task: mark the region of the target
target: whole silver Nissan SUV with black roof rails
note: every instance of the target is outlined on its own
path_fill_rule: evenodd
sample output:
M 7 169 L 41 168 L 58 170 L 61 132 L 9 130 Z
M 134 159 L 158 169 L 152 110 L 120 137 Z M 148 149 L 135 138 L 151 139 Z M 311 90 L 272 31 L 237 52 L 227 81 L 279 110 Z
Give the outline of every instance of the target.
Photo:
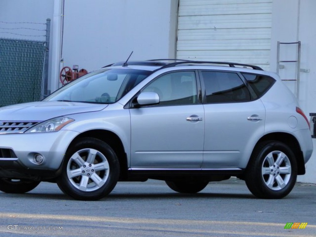
M 309 123 L 275 73 L 248 64 L 115 63 L 40 102 L 0 108 L 0 190 L 56 182 L 79 200 L 118 181 L 196 193 L 236 176 L 282 198 L 313 151 Z

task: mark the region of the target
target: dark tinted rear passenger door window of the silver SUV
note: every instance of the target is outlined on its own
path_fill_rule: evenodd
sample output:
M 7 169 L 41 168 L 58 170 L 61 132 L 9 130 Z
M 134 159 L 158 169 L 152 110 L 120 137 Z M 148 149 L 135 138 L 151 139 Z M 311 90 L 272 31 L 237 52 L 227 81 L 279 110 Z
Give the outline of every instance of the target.
M 251 100 L 250 92 L 237 73 L 202 71 L 207 103 Z

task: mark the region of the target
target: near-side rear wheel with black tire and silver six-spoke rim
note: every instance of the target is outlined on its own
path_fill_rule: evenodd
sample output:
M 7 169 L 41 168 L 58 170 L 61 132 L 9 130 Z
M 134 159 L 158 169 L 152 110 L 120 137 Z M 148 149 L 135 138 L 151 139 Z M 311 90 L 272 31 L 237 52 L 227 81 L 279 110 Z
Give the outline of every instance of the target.
M 266 199 L 283 198 L 292 191 L 296 178 L 295 155 L 286 144 L 266 141 L 256 146 L 245 176 L 253 195 Z

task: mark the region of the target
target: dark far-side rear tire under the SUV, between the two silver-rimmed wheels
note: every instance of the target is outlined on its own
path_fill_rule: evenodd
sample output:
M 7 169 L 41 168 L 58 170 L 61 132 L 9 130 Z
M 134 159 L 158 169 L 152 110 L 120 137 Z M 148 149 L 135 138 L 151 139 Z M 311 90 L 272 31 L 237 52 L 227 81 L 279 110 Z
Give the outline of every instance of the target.
M 180 193 L 197 193 L 202 191 L 209 181 L 166 181 L 173 191 Z

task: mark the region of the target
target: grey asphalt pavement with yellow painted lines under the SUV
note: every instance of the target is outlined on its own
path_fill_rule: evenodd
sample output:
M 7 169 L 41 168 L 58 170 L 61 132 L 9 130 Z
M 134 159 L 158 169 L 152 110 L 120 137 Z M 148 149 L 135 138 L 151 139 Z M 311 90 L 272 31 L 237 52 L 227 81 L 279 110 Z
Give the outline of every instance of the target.
M 0 236 L 316 236 L 315 197 L 316 185 L 297 183 L 283 199 L 257 199 L 231 178 L 193 195 L 158 180 L 121 182 L 86 202 L 41 183 L 26 194 L 0 192 Z

